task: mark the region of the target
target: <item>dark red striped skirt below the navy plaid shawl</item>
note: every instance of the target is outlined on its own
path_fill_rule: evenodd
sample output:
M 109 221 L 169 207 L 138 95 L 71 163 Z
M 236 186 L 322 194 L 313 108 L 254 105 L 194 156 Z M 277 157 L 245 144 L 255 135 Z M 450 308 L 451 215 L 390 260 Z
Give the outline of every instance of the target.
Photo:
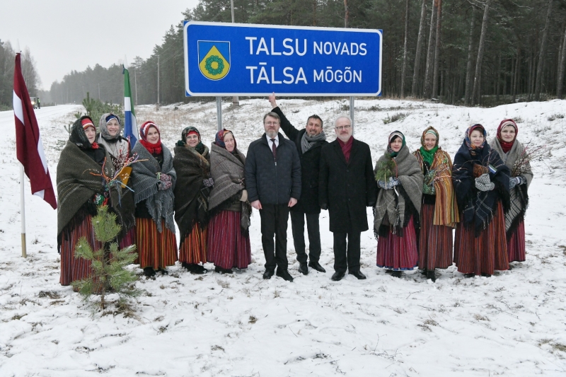
M 479 237 L 474 236 L 473 227 L 466 228 L 463 222 L 456 227 L 454 263 L 463 274 L 493 274 L 495 269 L 509 269 L 507 241 L 505 240 L 505 216 L 501 202 L 490 225 Z

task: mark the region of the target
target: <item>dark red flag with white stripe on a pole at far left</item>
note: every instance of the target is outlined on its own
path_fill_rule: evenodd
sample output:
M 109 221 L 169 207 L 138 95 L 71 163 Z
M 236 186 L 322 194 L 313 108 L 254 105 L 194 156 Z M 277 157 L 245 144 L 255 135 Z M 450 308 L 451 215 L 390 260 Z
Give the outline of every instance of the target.
M 31 193 L 57 208 L 57 199 L 51 183 L 47 158 L 43 151 L 40 128 L 28 88 L 23 81 L 20 54 L 16 54 L 13 69 L 13 115 L 16 122 L 16 156 L 23 165 L 25 175 L 30 178 Z

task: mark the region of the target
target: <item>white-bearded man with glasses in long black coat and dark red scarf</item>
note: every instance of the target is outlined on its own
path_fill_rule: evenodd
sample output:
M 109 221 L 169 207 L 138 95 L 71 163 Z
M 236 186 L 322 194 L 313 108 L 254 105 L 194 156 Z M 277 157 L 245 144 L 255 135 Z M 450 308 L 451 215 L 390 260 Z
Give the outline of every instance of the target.
M 337 139 L 320 153 L 319 181 L 320 207 L 328 209 L 334 233 L 332 279 L 341 280 L 346 271 L 366 279 L 359 270 L 359 255 L 360 236 L 368 230 L 366 207 L 374 206 L 377 195 L 371 151 L 352 136 L 350 117 L 337 117 L 334 129 Z

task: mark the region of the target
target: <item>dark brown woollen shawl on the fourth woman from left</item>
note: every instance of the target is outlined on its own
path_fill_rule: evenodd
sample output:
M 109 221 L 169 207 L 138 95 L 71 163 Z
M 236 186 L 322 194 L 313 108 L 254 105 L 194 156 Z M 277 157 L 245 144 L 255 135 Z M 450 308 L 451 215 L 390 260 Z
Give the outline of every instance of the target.
M 208 198 L 210 187 L 203 180 L 210 178 L 210 153 L 204 146 L 202 155 L 190 146 L 175 146 L 173 167 L 177 173 L 175 185 L 175 222 L 179 227 L 180 245 L 198 223 L 204 228 L 208 223 Z

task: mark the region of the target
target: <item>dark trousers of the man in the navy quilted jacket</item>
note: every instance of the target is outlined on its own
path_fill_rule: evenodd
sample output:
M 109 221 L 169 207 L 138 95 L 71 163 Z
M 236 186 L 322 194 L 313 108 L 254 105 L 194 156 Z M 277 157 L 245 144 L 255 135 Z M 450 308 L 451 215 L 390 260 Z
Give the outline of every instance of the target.
M 261 243 L 265 255 L 265 269 L 275 271 L 287 270 L 287 221 L 289 221 L 289 206 L 285 204 L 262 204 Z M 273 236 L 275 235 L 275 243 Z

